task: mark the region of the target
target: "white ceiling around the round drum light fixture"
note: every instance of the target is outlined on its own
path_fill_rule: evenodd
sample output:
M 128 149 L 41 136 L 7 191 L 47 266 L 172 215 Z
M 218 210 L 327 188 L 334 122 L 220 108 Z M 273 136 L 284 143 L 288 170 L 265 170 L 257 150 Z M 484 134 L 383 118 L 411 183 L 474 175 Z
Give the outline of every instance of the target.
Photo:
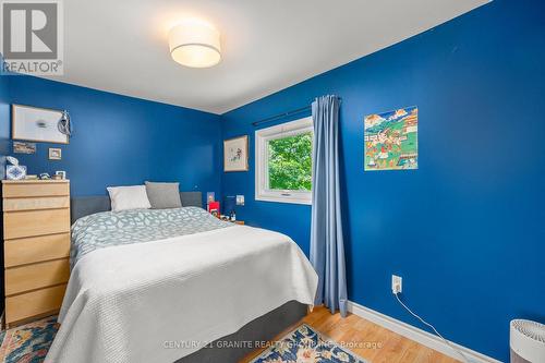
M 223 113 L 429 29 L 487 0 L 66 0 L 57 81 Z M 189 69 L 167 34 L 198 17 L 222 61 Z

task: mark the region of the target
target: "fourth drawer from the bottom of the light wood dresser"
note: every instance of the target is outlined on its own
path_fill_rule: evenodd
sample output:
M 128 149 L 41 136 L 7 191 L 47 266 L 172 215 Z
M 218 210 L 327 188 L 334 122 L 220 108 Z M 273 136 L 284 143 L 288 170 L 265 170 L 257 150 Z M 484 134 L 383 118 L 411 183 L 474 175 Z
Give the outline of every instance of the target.
M 70 209 L 5 211 L 4 239 L 19 239 L 70 231 Z

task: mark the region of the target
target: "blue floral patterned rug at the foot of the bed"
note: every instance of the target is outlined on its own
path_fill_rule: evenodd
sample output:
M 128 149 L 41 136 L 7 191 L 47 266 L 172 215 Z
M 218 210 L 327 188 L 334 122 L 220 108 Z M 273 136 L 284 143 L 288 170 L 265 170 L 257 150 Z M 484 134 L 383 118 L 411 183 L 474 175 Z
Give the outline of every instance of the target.
M 306 324 L 271 343 L 251 363 L 368 363 Z

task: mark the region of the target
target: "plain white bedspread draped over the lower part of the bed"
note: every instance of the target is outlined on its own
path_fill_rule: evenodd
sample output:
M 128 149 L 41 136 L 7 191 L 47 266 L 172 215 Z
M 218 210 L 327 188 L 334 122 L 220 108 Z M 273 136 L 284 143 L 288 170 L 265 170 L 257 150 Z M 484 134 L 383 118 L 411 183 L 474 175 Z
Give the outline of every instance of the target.
M 75 265 L 46 362 L 174 362 L 290 300 L 317 276 L 287 235 L 233 226 L 111 246 Z

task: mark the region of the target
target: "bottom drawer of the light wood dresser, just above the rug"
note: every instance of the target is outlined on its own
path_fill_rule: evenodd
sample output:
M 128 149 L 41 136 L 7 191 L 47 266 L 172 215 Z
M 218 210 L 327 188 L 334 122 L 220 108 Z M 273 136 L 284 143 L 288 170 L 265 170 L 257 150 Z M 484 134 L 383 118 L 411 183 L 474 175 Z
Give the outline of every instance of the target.
M 5 322 L 11 324 L 35 315 L 57 312 L 61 307 L 65 290 L 66 286 L 61 285 L 5 298 Z

